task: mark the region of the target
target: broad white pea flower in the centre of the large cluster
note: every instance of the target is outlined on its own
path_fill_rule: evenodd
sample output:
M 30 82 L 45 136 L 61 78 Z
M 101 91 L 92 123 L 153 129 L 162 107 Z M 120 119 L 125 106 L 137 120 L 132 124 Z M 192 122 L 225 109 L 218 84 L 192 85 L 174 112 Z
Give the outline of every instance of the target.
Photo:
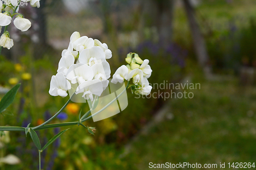
M 72 84 L 83 83 L 87 80 L 92 80 L 94 77 L 93 70 L 87 64 L 73 64 L 70 66 L 66 78 L 71 81 Z

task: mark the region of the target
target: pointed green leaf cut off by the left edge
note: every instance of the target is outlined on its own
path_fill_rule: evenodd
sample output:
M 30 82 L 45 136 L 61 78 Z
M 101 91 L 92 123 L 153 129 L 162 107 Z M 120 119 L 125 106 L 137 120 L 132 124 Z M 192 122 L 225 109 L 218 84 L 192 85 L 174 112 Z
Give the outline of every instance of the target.
M 0 113 L 2 113 L 13 102 L 19 86 L 20 84 L 15 85 L 4 95 L 3 99 L 0 101 Z

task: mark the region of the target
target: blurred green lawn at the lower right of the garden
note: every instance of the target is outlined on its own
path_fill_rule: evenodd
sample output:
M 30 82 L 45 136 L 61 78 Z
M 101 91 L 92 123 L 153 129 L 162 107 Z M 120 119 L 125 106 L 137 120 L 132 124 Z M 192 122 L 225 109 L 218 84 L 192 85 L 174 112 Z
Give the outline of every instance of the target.
M 193 99 L 171 102 L 174 119 L 153 127 L 125 159 L 138 169 L 153 163 L 254 162 L 256 88 L 205 82 Z M 185 169 L 185 168 L 184 168 Z

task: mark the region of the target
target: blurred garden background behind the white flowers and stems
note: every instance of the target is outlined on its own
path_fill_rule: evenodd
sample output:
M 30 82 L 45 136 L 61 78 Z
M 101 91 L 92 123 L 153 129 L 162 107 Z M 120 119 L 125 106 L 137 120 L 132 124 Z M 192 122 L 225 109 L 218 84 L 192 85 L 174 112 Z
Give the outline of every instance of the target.
M 150 169 L 153 163 L 256 160 L 256 1 L 254 0 L 41 0 L 20 7 L 32 22 L 22 33 L 8 27 L 14 46 L 0 56 L 0 98 L 22 83 L 0 125 L 40 125 L 68 100 L 49 94 L 61 51 L 73 32 L 108 44 L 112 74 L 127 53 L 149 59 L 154 83 L 200 83 L 193 99 L 136 99 L 99 122 L 95 136 L 72 126 L 46 152 L 42 169 Z M 3 33 L 3 31 L 2 31 Z M 154 88 L 153 92 L 175 89 Z M 176 90 L 177 91 L 177 90 Z M 182 91 L 182 90 L 181 90 Z M 70 103 L 54 120 L 77 121 L 86 103 Z M 62 128 L 38 132 L 45 144 Z M 0 169 L 37 169 L 38 153 L 24 132 L 0 138 Z

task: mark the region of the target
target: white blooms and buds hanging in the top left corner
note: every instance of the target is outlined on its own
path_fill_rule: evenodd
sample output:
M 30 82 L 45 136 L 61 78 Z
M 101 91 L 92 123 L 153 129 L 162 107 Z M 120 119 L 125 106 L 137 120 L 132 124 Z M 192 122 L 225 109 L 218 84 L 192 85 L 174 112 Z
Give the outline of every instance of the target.
M 21 31 L 27 31 L 31 27 L 31 22 L 23 18 L 22 14 L 16 13 L 19 9 L 18 6 L 20 3 L 27 4 L 30 2 L 32 7 L 39 8 L 39 1 L 40 0 L 0 0 L 0 30 L 2 27 L 10 25 L 12 18 L 17 14 L 13 21 L 14 26 Z M 0 37 L 0 46 L 8 48 L 8 50 L 13 46 L 13 40 L 10 38 L 8 31 L 4 32 Z

